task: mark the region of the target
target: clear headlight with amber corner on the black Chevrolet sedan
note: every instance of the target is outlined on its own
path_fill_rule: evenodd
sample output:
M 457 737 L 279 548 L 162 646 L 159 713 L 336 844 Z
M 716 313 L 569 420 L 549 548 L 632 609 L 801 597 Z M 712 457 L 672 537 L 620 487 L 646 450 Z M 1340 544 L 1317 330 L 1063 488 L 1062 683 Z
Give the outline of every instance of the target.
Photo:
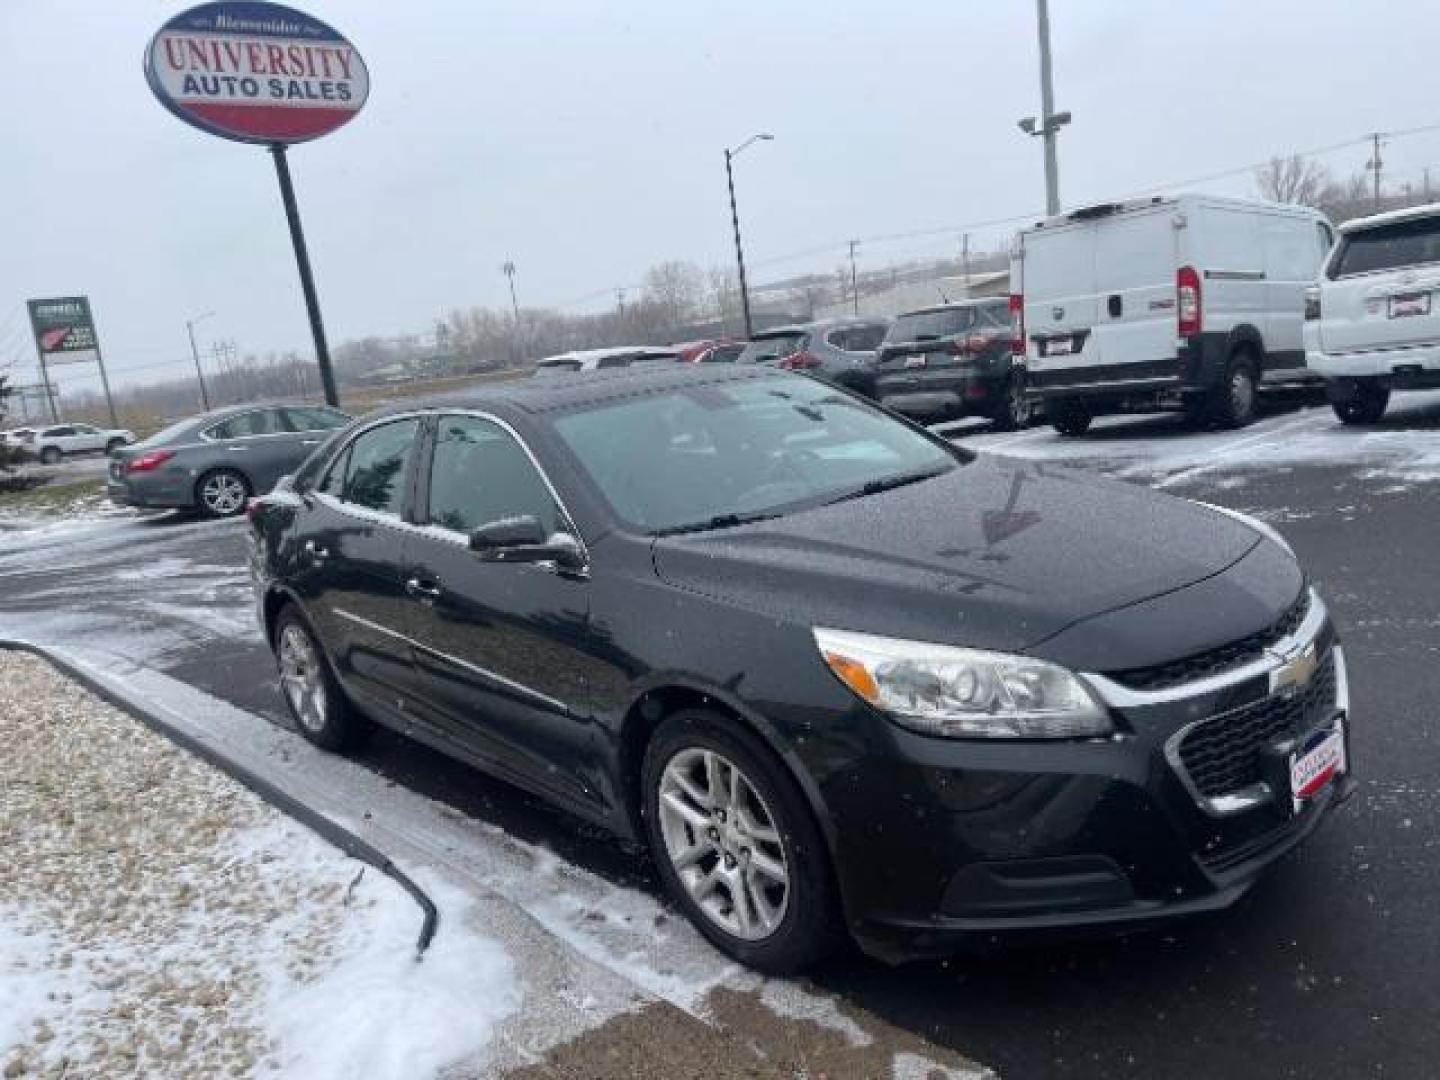
M 1077 739 L 1113 730 L 1084 684 L 1044 660 L 821 626 L 814 632 L 841 683 L 923 734 Z

